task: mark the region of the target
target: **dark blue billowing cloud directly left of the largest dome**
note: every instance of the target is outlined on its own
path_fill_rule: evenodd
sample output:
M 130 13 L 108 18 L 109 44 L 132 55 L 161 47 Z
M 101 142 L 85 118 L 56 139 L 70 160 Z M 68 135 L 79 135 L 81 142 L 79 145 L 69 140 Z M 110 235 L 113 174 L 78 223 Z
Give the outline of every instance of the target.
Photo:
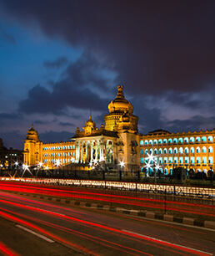
M 100 69 L 101 73 L 97 70 Z M 104 74 L 108 67 L 89 53 L 84 53 L 63 71 L 63 78 L 52 84 L 52 91 L 40 84 L 28 91 L 28 98 L 21 100 L 19 110 L 25 114 L 54 113 L 64 115 L 67 107 L 80 110 L 105 111 L 112 74 Z M 103 72 L 103 73 L 102 73 Z M 103 93 L 103 95 L 102 95 Z

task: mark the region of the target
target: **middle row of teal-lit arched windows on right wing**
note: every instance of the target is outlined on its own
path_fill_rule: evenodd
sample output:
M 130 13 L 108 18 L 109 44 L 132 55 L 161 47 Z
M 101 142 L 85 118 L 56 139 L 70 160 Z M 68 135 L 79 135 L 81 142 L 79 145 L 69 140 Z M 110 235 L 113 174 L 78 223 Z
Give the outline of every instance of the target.
M 186 147 L 185 149 L 183 149 L 183 147 L 180 147 L 179 149 L 177 147 L 175 147 L 174 149 L 172 147 L 170 147 L 169 149 L 167 148 L 160 148 L 160 149 L 145 149 L 144 154 L 154 154 L 154 155 L 161 155 L 161 154 L 188 154 L 188 153 L 213 153 L 213 147 L 209 146 L 208 149 L 206 146 L 203 146 L 203 148 L 201 149 L 199 146 L 196 148 L 196 150 L 194 149 L 194 147 L 191 147 L 190 150 L 188 147 Z M 143 155 L 143 149 L 141 149 L 140 154 Z

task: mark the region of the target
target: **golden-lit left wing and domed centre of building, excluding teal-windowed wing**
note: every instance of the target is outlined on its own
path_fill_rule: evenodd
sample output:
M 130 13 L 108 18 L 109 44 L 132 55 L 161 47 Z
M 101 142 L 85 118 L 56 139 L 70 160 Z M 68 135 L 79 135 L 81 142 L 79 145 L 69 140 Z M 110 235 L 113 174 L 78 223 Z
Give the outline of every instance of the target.
M 62 165 L 100 163 L 101 168 L 118 169 L 118 164 L 123 162 L 126 170 L 137 169 L 138 116 L 133 115 L 133 105 L 125 99 L 123 86 L 117 86 L 117 97 L 110 102 L 108 110 L 109 114 L 104 115 L 105 126 L 98 129 L 89 116 L 83 131 L 77 128 L 72 141 L 67 142 L 44 144 L 32 125 L 24 143 L 24 163 L 29 166 L 38 162 L 54 166 L 57 161 Z

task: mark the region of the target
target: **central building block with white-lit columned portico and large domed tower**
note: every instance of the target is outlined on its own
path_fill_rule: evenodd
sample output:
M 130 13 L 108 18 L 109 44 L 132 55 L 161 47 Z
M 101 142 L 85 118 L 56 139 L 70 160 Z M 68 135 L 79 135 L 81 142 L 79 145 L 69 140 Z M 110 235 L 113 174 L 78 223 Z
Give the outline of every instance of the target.
M 135 170 L 139 163 L 138 116 L 133 115 L 133 105 L 125 99 L 123 86 L 117 86 L 117 97 L 108 105 L 109 114 L 104 115 L 105 126 L 98 129 L 91 116 L 83 131 L 77 128 L 76 162 L 98 163 L 117 168 L 125 163 L 126 170 Z

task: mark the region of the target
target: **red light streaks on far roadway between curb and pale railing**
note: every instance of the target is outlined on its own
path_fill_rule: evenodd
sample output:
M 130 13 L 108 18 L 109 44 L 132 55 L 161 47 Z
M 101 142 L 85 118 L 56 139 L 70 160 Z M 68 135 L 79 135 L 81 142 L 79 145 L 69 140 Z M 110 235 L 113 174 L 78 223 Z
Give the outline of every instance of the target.
M 97 202 L 107 202 L 107 203 L 116 203 L 116 204 L 125 204 L 125 205 L 133 205 L 136 207 L 148 207 L 148 208 L 156 208 L 160 210 L 168 210 L 174 212 L 186 212 L 190 214 L 203 215 L 208 217 L 215 217 L 214 207 L 203 205 L 203 204 L 193 204 L 188 202 L 172 202 L 172 201 L 164 201 L 159 199 L 151 199 L 151 198 L 139 198 L 139 197 L 125 197 L 121 195 L 112 195 L 107 193 L 97 193 L 97 192 L 80 192 L 76 190 L 67 190 L 67 189 L 54 189 L 47 187 L 37 186 L 25 186 L 18 185 L 17 183 L 10 182 L 5 184 L 5 182 L 0 182 L 1 190 L 5 191 L 14 191 L 14 192 L 26 192 L 26 193 L 35 193 L 47 195 L 50 197 L 66 197 L 66 198 L 77 198 L 82 200 L 91 200 Z M 174 204 L 174 205 L 173 205 Z M 173 206 L 171 206 L 173 205 Z M 194 211 L 193 207 L 197 208 L 198 211 Z M 200 210 L 201 209 L 201 210 Z

